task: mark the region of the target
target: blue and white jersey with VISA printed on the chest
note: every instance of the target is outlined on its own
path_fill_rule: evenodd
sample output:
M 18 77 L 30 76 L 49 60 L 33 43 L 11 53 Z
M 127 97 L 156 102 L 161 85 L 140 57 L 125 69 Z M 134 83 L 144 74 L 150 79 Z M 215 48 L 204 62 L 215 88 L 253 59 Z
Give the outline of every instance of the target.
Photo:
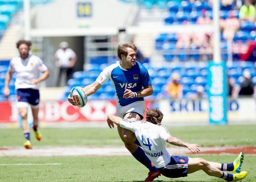
M 130 89 L 132 92 L 138 92 L 142 87 L 151 85 L 151 80 L 147 69 L 135 62 L 135 65 L 130 69 L 124 69 L 121 66 L 121 61 L 116 61 L 112 65 L 106 67 L 96 79 L 101 85 L 111 80 L 116 92 L 117 105 L 126 106 L 136 101 L 143 101 L 143 97 L 134 97 L 124 99 L 124 89 Z

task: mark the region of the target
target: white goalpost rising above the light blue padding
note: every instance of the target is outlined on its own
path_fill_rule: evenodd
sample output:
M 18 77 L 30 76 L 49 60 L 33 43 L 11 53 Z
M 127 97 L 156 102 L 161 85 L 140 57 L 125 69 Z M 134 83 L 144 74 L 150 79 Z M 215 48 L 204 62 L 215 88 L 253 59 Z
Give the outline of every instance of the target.
M 220 0 L 213 1 L 213 61 L 221 62 L 220 50 Z

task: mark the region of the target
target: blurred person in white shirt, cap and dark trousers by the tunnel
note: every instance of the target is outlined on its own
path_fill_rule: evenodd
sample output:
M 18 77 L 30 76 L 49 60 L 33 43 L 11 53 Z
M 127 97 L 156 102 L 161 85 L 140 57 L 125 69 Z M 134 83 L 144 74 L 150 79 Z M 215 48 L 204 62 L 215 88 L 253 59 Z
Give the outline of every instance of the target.
M 68 43 L 61 42 L 60 49 L 56 51 L 54 56 L 56 66 L 59 67 L 59 77 L 56 84 L 57 87 L 60 86 L 62 73 L 67 75 L 65 84 L 67 83 L 67 80 L 72 78 L 73 66 L 75 65 L 76 59 L 76 53 L 72 49 L 68 48 Z

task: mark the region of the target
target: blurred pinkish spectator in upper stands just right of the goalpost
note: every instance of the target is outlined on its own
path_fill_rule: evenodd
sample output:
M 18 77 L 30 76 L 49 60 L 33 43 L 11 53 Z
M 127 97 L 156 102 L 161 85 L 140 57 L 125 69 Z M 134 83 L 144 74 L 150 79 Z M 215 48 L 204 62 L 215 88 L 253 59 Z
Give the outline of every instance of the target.
M 233 11 L 228 12 L 228 18 L 220 20 L 220 26 L 223 30 L 223 37 L 226 40 L 233 40 L 236 31 L 240 28 L 239 20 L 234 16 Z

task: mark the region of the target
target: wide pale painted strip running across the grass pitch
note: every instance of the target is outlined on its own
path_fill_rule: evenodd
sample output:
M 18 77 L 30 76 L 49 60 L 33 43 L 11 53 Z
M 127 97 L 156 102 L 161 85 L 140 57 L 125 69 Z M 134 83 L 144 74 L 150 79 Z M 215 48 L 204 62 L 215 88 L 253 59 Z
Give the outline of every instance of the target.
M 201 147 L 201 152 L 238 149 L 242 146 L 226 147 Z M 4 156 L 124 156 L 131 155 L 124 146 L 44 146 L 33 147 L 28 150 L 24 147 L 3 147 L 0 157 Z M 0 148 L 1 149 L 1 148 Z M 192 154 L 185 147 L 167 147 L 167 151 L 173 155 Z M 237 154 L 240 151 L 237 151 Z M 211 153 L 211 152 L 210 152 Z M 200 154 L 200 153 L 199 153 Z

